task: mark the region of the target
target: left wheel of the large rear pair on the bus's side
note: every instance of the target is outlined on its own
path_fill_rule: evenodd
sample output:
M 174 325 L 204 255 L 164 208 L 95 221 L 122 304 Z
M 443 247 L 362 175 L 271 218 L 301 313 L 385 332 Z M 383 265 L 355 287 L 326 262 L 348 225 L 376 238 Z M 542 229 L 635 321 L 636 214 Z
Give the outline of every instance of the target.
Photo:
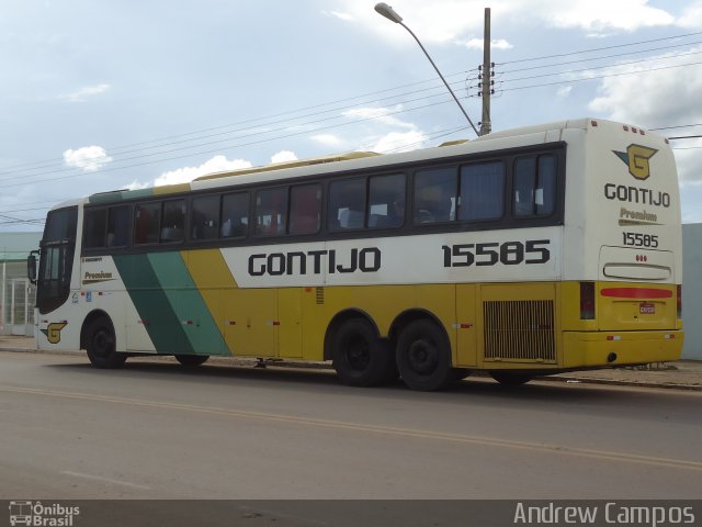
M 363 318 L 344 322 L 337 329 L 332 346 L 333 368 L 344 384 L 373 386 L 393 380 L 393 352 L 370 322 Z

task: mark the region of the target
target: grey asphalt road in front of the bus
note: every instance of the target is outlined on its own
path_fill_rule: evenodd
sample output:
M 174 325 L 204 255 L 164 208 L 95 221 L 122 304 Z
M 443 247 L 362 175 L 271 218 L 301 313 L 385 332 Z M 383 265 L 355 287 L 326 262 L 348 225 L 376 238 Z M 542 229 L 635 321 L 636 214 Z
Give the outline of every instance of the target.
M 702 392 L 0 352 L 0 498 L 698 498 Z

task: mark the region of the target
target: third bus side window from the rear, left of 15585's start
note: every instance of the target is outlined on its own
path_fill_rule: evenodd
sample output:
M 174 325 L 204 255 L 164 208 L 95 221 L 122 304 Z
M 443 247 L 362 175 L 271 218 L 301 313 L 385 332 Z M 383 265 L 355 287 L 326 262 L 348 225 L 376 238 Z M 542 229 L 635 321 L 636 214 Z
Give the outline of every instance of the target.
M 457 169 L 435 168 L 415 175 L 412 221 L 415 224 L 449 222 L 455 218 Z

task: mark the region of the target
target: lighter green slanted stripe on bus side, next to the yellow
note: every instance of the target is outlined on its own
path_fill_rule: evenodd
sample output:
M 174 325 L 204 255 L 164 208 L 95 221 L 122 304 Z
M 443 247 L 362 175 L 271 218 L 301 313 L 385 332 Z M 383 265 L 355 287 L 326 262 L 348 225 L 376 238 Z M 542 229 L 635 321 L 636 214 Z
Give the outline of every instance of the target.
M 225 339 L 180 253 L 148 255 L 179 324 L 197 355 L 228 355 Z

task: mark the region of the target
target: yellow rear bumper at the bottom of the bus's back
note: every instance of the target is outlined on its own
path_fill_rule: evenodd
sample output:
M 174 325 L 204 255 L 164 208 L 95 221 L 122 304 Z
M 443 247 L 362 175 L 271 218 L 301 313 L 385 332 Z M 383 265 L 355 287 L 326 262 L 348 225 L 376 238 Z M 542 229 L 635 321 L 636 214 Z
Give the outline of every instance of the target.
M 680 359 L 684 334 L 668 332 L 566 332 L 563 368 L 668 362 Z

